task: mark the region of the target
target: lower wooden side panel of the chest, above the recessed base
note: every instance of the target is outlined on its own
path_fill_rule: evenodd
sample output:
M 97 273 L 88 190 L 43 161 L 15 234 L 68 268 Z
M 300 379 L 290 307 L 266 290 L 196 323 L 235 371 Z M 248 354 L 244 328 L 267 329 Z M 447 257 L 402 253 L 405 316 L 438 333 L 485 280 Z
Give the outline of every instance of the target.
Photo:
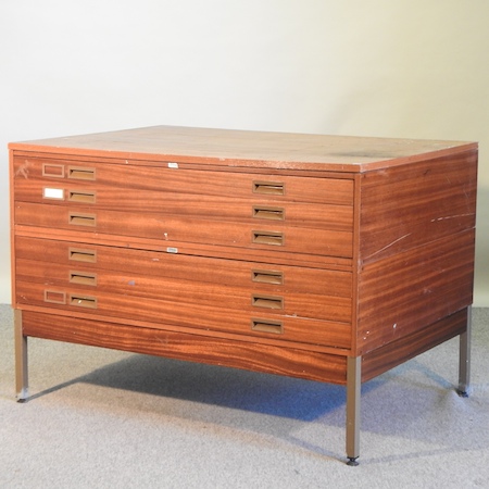
M 474 244 L 471 229 L 365 265 L 359 289 L 359 354 L 472 304 Z

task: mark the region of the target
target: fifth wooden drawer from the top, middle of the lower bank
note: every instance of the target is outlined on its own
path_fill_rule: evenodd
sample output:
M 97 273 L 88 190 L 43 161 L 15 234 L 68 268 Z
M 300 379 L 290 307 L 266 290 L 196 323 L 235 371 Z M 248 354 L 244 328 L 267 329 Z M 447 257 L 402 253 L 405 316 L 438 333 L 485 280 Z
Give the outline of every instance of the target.
M 237 310 L 249 314 L 308 317 L 316 319 L 351 322 L 351 298 L 327 293 L 278 291 L 276 288 L 255 287 L 226 283 L 209 283 L 113 271 L 93 272 L 85 267 L 66 267 L 47 262 L 17 260 L 17 279 L 40 284 L 46 291 L 76 290 L 97 299 L 99 292 L 108 292 L 133 300 L 135 306 L 146 298 L 189 309 L 196 304 L 209 308 Z M 51 302 L 47 300 L 47 302 Z M 95 305 L 91 304 L 91 305 Z

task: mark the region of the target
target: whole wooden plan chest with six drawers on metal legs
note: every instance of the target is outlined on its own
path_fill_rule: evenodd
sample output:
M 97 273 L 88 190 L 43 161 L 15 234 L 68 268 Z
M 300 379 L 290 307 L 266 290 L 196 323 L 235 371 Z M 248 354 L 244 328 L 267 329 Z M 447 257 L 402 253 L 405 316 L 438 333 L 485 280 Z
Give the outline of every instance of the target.
M 39 337 L 347 386 L 454 337 L 477 143 L 159 126 L 10 145 L 16 388 Z

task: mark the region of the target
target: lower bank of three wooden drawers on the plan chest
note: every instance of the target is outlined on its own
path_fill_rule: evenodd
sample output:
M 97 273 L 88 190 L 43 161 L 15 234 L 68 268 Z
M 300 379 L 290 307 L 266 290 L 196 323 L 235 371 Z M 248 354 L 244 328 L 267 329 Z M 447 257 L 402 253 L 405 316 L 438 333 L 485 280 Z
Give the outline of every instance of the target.
M 351 273 L 21 237 L 15 251 L 18 304 L 349 348 Z

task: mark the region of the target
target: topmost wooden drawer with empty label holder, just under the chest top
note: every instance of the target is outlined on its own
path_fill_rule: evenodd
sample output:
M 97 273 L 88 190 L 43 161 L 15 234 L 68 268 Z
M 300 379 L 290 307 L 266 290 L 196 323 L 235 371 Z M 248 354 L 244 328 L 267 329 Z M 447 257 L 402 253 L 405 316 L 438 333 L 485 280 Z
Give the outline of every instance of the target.
M 180 170 L 172 167 L 172 164 L 168 166 L 168 163 L 143 166 L 139 162 L 136 166 L 17 156 L 14 159 L 14 183 L 17 199 L 18 196 L 32 193 L 33 186 L 40 185 L 54 189 L 62 188 L 65 192 L 73 188 L 98 193 L 99 188 L 112 188 L 117 204 L 127 204 L 121 202 L 121 192 L 124 191 L 125 196 L 125 190 L 133 189 L 136 191 L 135 200 L 145 199 L 145 192 L 164 192 L 353 205 L 353 180 L 348 178 Z M 55 192 L 53 195 L 55 196 Z

